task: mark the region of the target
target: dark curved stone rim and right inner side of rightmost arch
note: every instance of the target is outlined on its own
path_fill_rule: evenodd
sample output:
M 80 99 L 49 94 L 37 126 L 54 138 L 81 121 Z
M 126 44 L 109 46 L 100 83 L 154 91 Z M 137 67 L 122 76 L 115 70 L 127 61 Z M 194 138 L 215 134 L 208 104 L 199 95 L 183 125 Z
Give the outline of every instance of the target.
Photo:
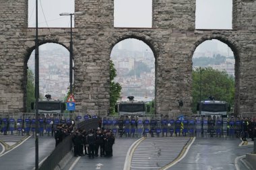
M 222 34 L 205 34 L 205 36 L 202 36 L 199 38 L 194 43 L 193 49 L 191 50 L 190 56 L 193 56 L 193 53 L 195 52 L 195 49 L 199 44 L 205 42 L 206 40 L 212 40 L 216 39 L 219 40 L 220 42 L 223 42 L 224 44 L 227 44 L 229 48 L 231 48 L 232 52 L 234 53 L 234 59 L 235 59 L 235 64 L 234 64 L 234 87 L 235 87 L 235 94 L 234 94 L 234 114 L 240 113 L 240 95 L 239 95 L 239 89 L 240 89 L 240 56 L 239 56 L 239 45 L 238 42 L 234 40 L 230 40 L 228 36 L 223 36 Z

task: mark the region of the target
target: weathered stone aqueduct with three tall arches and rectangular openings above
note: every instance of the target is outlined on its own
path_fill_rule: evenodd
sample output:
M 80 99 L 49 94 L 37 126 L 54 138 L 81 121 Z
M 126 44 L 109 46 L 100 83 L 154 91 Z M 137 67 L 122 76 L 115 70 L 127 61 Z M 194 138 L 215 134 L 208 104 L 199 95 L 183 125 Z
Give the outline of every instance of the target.
M 76 109 L 109 110 L 110 52 L 121 40 L 142 40 L 156 58 L 156 112 L 191 110 L 192 56 L 205 40 L 234 52 L 235 112 L 256 112 L 256 1 L 233 0 L 232 30 L 195 30 L 195 0 L 152 1 L 152 28 L 114 28 L 113 0 L 75 0 L 73 48 Z M 26 71 L 35 29 L 28 28 L 27 0 L 0 0 L 0 110 L 26 110 Z M 69 49 L 69 28 L 40 28 L 40 44 Z

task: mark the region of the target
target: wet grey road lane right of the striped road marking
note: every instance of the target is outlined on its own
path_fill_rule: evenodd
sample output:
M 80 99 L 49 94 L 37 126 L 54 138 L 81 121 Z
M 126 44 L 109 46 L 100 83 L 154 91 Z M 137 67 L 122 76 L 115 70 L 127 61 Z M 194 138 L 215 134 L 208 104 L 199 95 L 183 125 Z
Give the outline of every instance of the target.
M 238 146 L 238 138 L 196 138 L 186 157 L 171 170 L 234 170 L 236 157 L 251 153 L 253 146 Z M 240 169 L 246 168 L 238 162 Z

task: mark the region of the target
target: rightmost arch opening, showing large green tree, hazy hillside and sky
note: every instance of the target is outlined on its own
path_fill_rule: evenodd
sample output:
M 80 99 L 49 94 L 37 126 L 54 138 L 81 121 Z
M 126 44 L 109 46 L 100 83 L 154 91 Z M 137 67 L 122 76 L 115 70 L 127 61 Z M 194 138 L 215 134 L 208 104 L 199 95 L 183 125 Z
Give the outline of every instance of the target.
M 193 113 L 197 102 L 212 96 L 227 101 L 234 114 L 238 113 L 238 56 L 227 40 L 203 40 L 193 53 Z

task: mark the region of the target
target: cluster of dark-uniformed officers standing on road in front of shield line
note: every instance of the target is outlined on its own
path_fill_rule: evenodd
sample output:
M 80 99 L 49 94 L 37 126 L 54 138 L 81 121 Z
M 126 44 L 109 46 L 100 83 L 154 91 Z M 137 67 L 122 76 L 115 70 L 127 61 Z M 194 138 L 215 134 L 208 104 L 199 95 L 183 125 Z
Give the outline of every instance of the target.
M 115 136 L 104 128 L 86 130 L 76 129 L 72 137 L 74 156 L 88 155 L 89 158 L 112 157 Z

